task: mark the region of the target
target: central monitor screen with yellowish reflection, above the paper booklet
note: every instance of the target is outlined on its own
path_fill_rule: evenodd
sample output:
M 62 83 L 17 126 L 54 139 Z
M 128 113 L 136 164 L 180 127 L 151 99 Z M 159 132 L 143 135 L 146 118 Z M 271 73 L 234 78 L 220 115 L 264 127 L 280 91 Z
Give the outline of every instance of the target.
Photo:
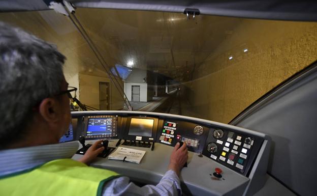
M 154 119 L 132 118 L 130 123 L 129 135 L 152 136 Z

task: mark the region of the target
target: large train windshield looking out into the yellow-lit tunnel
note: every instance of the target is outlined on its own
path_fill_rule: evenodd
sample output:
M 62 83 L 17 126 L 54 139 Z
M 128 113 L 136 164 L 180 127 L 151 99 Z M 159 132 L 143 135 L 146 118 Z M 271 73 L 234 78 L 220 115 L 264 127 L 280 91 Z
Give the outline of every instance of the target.
M 0 20 L 57 46 L 87 109 L 228 123 L 316 61 L 316 22 L 91 8 L 75 16 L 8 12 Z M 76 102 L 72 109 L 81 110 Z

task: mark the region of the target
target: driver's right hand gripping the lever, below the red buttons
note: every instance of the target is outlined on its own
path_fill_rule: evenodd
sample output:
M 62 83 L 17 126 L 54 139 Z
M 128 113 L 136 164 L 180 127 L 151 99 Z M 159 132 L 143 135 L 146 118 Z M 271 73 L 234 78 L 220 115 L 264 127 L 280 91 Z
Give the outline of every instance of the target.
M 181 147 L 179 147 L 179 145 L 179 142 L 175 145 L 174 150 L 171 154 L 170 165 L 168 167 L 168 169 L 173 170 L 177 174 L 177 176 L 179 176 L 180 170 L 188 159 L 186 143 L 184 142 Z

